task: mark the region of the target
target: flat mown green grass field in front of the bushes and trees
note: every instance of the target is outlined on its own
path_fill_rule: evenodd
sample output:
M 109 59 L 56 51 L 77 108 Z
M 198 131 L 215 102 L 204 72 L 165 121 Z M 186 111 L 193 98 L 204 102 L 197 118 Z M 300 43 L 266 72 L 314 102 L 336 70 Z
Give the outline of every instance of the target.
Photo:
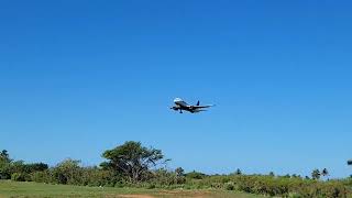
M 141 188 L 84 187 L 69 185 L 48 185 L 37 183 L 16 183 L 0 180 L 0 198 L 2 197 L 223 197 L 254 198 L 255 195 L 226 190 L 165 190 Z

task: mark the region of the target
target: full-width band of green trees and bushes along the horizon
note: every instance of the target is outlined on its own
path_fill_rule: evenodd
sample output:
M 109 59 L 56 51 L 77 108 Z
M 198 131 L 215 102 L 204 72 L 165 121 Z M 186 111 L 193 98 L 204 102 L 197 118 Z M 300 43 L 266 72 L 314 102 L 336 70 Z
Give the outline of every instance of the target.
M 143 187 L 143 188 L 184 188 L 184 189 L 224 189 L 250 194 L 280 197 L 351 197 L 352 178 L 320 180 L 328 170 L 315 169 L 311 177 L 299 175 L 275 176 L 243 175 L 237 169 L 230 175 L 206 175 L 198 172 L 185 173 L 182 167 L 168 170 L 161 150 L 144 147 L 139 142 L 125 142 L 103 152 L 106 162 L 99 166 L 85 167 L 79 161 L 67 158 L 48 167 L 44 163 L 25 164 L 13 161 L 7 151 L 0 153 L 0 178 L 16 182 L 47 184 Z M 350 162 L 350 161 L 349 161 Z M 350 163 L 348 163 L 350 164 Z

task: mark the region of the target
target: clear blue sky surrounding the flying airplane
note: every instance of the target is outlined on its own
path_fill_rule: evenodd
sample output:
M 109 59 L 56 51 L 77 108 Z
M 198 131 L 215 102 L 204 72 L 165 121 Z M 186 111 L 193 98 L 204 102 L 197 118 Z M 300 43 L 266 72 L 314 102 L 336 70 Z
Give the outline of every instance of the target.
M 351 1 L 0 2 L 0 148 L 205 173 L 352 173 Z M 175 97 L 217 107 L 168 108 Z

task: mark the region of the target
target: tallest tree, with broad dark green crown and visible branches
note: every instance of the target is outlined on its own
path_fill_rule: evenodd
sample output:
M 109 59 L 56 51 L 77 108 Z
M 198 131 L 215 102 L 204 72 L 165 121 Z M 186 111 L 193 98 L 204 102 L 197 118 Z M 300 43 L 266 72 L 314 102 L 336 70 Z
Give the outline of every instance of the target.
M 102 167 L 123 173 L 131 183 L 141 182 L 143 174 L 146 174 L 151 167 L 155 167 L 164 158 L 161 150 L 147 148 L 142 146 L 140 142 L 133 141 L 108 150 L 103 152 L 102 156 L 108 160 L 101 164 Z

